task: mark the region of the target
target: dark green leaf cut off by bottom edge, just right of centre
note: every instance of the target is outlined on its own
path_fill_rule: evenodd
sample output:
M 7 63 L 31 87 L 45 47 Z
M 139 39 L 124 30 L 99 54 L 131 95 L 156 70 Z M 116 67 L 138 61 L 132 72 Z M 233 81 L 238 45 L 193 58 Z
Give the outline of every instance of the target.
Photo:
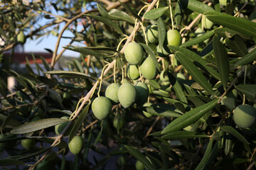
M 139 162 L 142 162 L 142 164 L 150 170 L 154 170 L 154 166 L 152 166 L 152 164 L 149 162 L 149 159 L 147 159 L 144 154 L 142 154 L 141 152 L 139 152 L 137 149 L 134 149 L 133 147 L 129 147 L 127 145 L 124 145 L 124 147 L 126 147 L 129 151 L 130 154 L 132 154 L 132 156 L 134 156 L 137 160 L 139 160 Z

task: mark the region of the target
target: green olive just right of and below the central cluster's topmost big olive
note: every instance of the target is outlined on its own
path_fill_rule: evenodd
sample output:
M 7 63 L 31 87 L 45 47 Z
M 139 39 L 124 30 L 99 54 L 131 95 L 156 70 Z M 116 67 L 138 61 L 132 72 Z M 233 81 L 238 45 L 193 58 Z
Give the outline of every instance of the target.
M 139 67 L 142 76 L 146 79 L 154 79 L 157 74 L 156 65 L 154 64 L 151 57 L 147 57 L 144 62 L 142 62 L 142 65 Z

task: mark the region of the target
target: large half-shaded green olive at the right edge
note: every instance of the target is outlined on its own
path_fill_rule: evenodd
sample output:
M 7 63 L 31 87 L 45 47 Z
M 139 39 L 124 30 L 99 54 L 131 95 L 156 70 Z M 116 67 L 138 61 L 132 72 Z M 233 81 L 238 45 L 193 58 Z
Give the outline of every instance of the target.
M 239 105 L 234 110 L 235 124 L 240 128 L 249 128 L 255 123 L 256 110 L 250 105 Z

